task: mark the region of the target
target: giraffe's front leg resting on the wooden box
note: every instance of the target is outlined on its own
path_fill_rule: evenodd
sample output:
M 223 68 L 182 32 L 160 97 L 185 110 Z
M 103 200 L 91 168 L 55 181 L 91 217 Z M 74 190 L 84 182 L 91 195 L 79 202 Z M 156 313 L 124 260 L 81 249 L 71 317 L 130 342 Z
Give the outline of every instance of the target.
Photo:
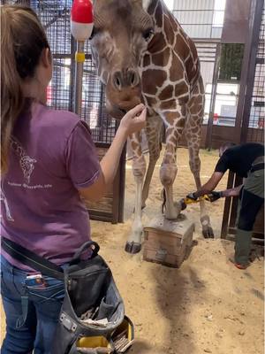
M 181 212 L 181 204 L 174 203 L 173 183 L 175 181 L 178 168 L 176 165 L 176 150 L 178 140 L 184 126 L 184 109 L 176 112 L 164 112 L 163 116 L 169 123 L 166 127 L 166 146 L 163 158 L 163 164 L 160 169 L 160 179 L 165 191 L 165 218 L 175 220 Z

